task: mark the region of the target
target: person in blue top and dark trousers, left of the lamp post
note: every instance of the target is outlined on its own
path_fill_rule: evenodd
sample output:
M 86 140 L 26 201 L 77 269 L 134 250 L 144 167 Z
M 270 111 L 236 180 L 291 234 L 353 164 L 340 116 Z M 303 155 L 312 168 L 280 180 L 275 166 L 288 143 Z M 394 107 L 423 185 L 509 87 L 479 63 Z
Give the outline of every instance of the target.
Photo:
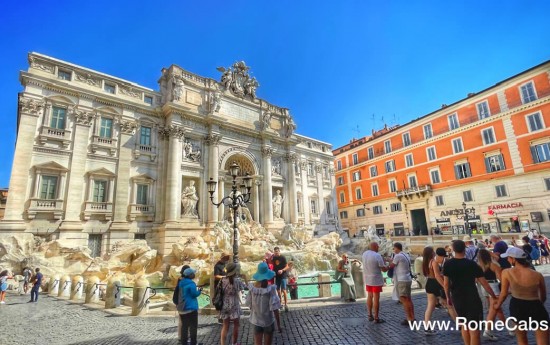
M 182 344 L 187 344 L 187 339 L 191 339 L 191 345 L 197 344 L 197 328 L 199 323 L 199 301 L 202 288 L 197 288 L 195 279 L 196 271 L 192 268 L 187 268 L 183 271 L 183 279 L 180 280 L 179 299 L 177 309 L 181 319 L 181 338 Z

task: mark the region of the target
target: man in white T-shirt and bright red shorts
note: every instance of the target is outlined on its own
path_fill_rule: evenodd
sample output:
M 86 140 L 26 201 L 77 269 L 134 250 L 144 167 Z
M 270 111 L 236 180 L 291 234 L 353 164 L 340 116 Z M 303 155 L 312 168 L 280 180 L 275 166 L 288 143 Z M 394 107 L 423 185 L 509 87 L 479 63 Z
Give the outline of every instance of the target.
M 378 243 L 371 242 L 369 250 L 363 253 L 363 279 L 367 291 L 369 321 L 383 323 L 385 321 L 379 317 L 380 292 L 382 292 L 382 286 L 384 285 L 382 271 L 385 272 L 388 268 L 382 256 L 378 254 L 378 249 Z

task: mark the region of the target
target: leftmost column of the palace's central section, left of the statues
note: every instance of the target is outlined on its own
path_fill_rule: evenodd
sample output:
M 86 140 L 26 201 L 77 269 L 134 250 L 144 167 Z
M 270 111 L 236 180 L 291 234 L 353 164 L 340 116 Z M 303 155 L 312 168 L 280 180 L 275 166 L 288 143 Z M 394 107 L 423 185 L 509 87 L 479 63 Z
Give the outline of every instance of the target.
M 181 214 L 181 140 L 183 128 L 170 125 L 168 131 L 168 157 L 166 167 L 166 189 L 164 217 L 168 222 L 177 222 Z

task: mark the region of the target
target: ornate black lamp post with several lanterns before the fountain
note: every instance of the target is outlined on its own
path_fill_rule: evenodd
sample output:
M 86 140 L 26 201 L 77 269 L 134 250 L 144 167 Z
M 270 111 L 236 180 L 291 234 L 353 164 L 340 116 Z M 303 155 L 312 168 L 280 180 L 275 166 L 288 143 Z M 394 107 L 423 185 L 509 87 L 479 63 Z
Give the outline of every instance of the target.
M 239 263 L 239 229 L 237 228 L 237 217 L 239 207 L 246 206 L 250 201 L 250 189 L 252 188 L 252 177 L 246 173 L 242 178 L 242 184 L 239 186 L 240 192 L 237 190 L 237 176 L 239 175 L 239 165 L 235 162 L 229 166 L 229 172 L 233 177 L 233 185 L 231 186 L 231 194 L 225 196 L 218 203 L 214 202 L 214 192 L 216 191 L 217 181 L 211 177 L 210 181 L 206 182 L 208 193 L 210 193 L 210 201 L 216 207 L 224 205 L 233 210 L 233 262 Z

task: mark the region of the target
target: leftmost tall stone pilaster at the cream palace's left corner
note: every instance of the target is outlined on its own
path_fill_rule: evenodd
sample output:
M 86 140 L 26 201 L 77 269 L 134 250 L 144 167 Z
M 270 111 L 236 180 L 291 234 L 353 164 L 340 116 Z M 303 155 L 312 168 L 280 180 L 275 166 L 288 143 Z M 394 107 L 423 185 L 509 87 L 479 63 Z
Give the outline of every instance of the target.
M 32 164 L 32 143 L 37 130 L 38 118 L 43 114 L 44 102 L 27 97 L 19 98 L 19 131 L 17 133 L 17 145 L 13 156 L 10 179 L 10 197 L 6 204 L 4 221 L 0 229 L 12 223 L 10 230 L 25 230 L 23 214 L 25 212 L 27 194 L 27 172 Z M 36 177 L 35 177 L 36 178 Z M 14 226 L 16 223 L 17 226 Z

